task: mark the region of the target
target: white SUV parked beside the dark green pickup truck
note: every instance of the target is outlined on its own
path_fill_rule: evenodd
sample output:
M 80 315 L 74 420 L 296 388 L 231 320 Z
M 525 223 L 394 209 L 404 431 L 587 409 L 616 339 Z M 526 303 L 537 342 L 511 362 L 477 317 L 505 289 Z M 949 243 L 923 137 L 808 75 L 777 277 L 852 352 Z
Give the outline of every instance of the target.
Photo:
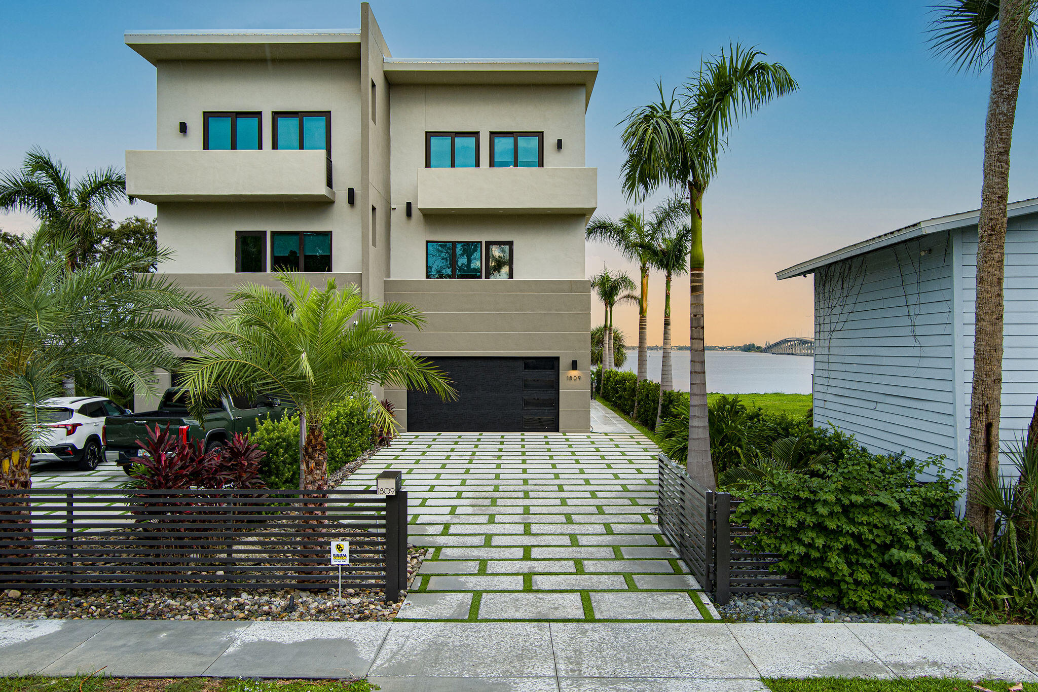
M 128 411 L 104 396 L 59 396 L 36 406 L 43 423 L 39 460 L 75 462 L 92 471 L 105 459 L 105 416 Z

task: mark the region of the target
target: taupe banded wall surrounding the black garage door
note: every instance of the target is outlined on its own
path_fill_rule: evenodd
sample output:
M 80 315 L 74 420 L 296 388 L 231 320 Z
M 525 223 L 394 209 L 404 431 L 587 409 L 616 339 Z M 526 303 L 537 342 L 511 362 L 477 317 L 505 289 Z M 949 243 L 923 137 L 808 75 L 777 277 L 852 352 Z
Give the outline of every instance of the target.
M 591 428 L 591 284 L 573 281 L 387 279 L 386 300 L 416 306 L 418 331 L 399 332 L 425 356 L 541 356 L 559 359 L 558 430 Z M 579 380 L 570 380 L 576 359 Z M 407 392 L 386 389 L 407 425 Z

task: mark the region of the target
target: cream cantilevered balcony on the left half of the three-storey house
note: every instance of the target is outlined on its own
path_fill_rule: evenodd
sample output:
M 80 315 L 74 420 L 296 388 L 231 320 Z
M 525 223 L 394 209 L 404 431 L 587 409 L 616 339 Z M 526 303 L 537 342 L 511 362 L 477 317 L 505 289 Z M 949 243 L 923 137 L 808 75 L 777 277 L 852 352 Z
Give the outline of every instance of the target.
M 144 201 L 335 201 L 324 149 L 130 150 L 127 194 Z

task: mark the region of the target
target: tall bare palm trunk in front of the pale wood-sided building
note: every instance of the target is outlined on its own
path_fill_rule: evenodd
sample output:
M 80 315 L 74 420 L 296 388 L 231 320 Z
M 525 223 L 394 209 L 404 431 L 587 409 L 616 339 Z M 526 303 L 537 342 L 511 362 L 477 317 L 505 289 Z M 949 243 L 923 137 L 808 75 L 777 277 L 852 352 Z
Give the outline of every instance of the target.
M 994 510 L 980 502 L 980 493 L 985 480 L 996 476 L 999 472 L 1009 149 L 1016 117 L 1016 96 L 1023 71 L 1027 35 L 1023 20 L 1028 8 L 1028 0 L 1002 0 L 1000 4 L 999 30 L 991 61 L 991 93 L 984 133 L 984 182 L 978 226 L 976 331 L 966 473 L 966 520 L 984 535 L 994 532 Z

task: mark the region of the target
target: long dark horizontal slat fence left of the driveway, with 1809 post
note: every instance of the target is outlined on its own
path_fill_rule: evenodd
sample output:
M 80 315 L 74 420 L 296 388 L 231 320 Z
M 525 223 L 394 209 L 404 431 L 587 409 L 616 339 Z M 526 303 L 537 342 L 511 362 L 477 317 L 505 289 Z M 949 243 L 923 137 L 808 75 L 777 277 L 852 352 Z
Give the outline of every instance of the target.
M 0 491 L 0 588 L 329 588 L 407 584 L 407 493 Z

